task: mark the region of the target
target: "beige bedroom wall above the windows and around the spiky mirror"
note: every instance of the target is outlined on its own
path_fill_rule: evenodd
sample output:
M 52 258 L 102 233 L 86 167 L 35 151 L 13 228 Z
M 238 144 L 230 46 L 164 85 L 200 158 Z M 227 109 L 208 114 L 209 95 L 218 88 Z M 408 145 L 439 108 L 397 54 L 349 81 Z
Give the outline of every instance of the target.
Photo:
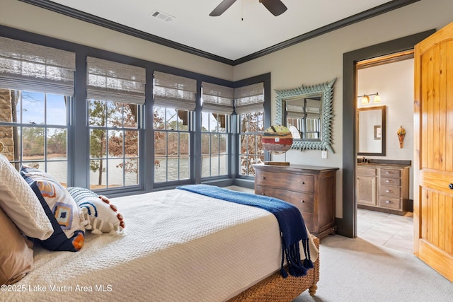
M 286 156 L 287 161 L 292 163 L 341 168 L 343 53 L 432 28 L 440 29 L 453 21 L 452 9 L 451 0 L 422 0 L 234 67 L 84 23 L 16 0 L 1 0 L 0 24 L 219 79 L 236 81 L 270 72 L 272 91 L 294 88 L 302 83 L 312 85 L 336 78 L 333 98 L 335 115 L 333 149 L 336 153 L 328 153 L 327 159 L 321 159 L 321 151 L 292 150 L 287 152 Z M 274 115 L 275 92 L 271 98 L 273 100 L 271 113 Z M 340 170 L 337 173 L 336 192 L 338 217 L 342 217 L 343 211 L 341 175 Z

